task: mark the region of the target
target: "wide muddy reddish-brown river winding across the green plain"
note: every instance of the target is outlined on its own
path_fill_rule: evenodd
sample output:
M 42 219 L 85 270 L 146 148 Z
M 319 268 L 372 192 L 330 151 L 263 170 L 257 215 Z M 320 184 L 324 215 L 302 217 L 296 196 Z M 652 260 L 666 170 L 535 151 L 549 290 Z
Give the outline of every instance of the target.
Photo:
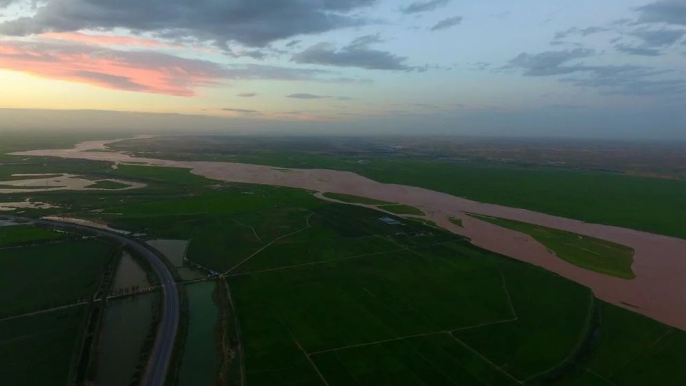
M 451 232 L 471 238 L 475 245 L 544 267 L 587 285 L 602 300 L 686 330 L 686 240 L 683 239 L 587 224 L 531 210 L 484 204 L 415 186 L 382 184 L 347 171 L 284 169 L 230 162 L 156 160 L 115 152 L 85 151 L 102 148 L 107 142 L 115 141 L 91 141 L 81 143 L 75 149 L 34 150 L 16 154 L 111 162 L 147 162 L 150 165 L 188 168 L 192 173 L 215 180 L 345 193 L 416 206 L 427 214 L 428 219 Z M 94 147 L 91 147 L 91 143 Z M 635 250 L 632 269 L 637 277 L 634 280 L 624 280 L 577 267 L 557 258 L 541 243 L 525 234 L 469 217 L 465 212 L 525 221 L 628 245 Z M 462 219 L 464 228 L 452 224 L 449 217 Z

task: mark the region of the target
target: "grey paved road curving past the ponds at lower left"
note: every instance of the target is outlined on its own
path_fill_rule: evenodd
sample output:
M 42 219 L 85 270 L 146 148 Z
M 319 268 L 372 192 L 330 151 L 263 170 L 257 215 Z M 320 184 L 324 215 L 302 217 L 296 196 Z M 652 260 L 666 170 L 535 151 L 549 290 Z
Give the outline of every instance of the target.
M 143 258 L 150 263 L 150 266 L 154 269 L 155 274 L 160 279 L 164 301 L 162 306 L 162 320 L 157 330 L 157 339 L 152 349 L 152 354 L 150 354 L 150 361 L 147 363 L 147 370 L 145 370 L 141 384 L 145 386 L 163 386 L 167 376 L 169 362 L 171 361 L 171 353 L 174 351 L 174 339 L 176 339 L 176 330 L 178 330 L 179 305 L 178 291 L 176 289 L 176 282 L 174 282 L 174 276 L 172 276 L 169 271 L 169 267 L 163 263 L 159 252 L 140 241 L 130 239 L 121 234 L 108 232 L 98 228 L 91 228 L 89 226 L 75 225 L 54 220 L 27 219 L 4 214 L 0 217 L 25 219 L 49 228 L 86 230 L 92 234 L 97 234 L 98 236 L 106 237 L 126 245 L 140 256 L 143 256 Z

